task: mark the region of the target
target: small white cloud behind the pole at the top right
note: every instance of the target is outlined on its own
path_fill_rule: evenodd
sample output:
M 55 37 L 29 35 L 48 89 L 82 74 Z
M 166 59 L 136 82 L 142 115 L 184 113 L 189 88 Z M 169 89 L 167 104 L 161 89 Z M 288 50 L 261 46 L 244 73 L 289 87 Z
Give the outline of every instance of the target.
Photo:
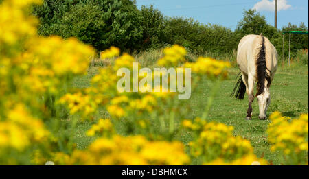
M 278 12 L 280 10 L 287 10 L 291 8 L 292 5 L 289 5 L 286 0 L 278 0 Z M 255 9 L 257 11 L 274 11 L 275 10 L 275 0 L 268 1 L 268 0 L 262 0 L 258 3 L 255 3 L 252 9 Z

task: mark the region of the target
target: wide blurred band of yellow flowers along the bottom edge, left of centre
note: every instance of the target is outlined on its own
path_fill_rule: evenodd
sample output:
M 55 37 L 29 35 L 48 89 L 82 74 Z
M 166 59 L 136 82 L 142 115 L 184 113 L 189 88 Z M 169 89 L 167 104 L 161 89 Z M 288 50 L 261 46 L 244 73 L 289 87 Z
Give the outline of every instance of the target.
M 181 142 L 148 141 L 144 136 L 96 139 L 87 150 L 71 156 L 58 152 L 57 165 L 185 165 L 190 162 Z

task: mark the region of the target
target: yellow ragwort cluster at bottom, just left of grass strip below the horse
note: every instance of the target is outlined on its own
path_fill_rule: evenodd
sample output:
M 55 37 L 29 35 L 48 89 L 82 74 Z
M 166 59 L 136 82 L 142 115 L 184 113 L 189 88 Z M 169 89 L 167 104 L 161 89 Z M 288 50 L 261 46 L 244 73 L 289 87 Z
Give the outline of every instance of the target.
M 190 153 L 194 157 L 201 157 L 204 165 L 251 165 L 255 160 L 265 163 L 254 156 L 250 141 L 233 136 L 233 126 L 215 121 L 206 122 L 199 118 L 193 122 L 184 120 L 182 124 L 196 135 L 195 140 L 189 143 Z M 242 160 L 245 158 L 246 160 Z M 248 158 L 254 160 L 249 161 Z

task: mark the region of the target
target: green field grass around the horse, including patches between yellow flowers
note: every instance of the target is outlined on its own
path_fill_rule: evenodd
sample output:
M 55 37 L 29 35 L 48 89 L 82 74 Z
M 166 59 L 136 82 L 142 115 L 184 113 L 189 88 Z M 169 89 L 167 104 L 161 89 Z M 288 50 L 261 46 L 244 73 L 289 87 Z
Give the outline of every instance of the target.
M 144 52 L 142 55 L 136 55 L 138 61 L 143 59 L 146 62 L 142 66 L 153 67 L 155 59 L 160 55 L 153 51 Z M 268 108 L 268 115 L 271 112 L 279 111 L 288 117 L 298 117 L 301 113 L 308 113 L 308 66 L 306 64 L 293 62 L 290 67 L 284 63 L 279 63 L 275 79 L 271 85 L 271 105 Z M 89 86 L 89 81 L 95 75 L 97 69 L 100 67 L 91 67 L 88 75 L 78 77 L 73 81 L 73 86 L 77 88 L 84 88 Z M 233 86 L 236 82 L 236 75 L 238 69 L 233 67 L 229 73 L 229 79 L 225 80 L 218 91 L 215 102 L 209 112 L 209 121 L 218 121 L 234 127 L 234 134 L 242 136 L 244 139 L 251 141 L 254 148 L 254 153 L 257 156 L 264 157 L 271 161 L 274 165 L 279 165 L 282 160 L 277 154 L 271 153 L 269 150 L 269 143 L 267 141 L 266 129 L 270 121 L 260 121 L 258 119 L 258 102 L 255 99 L 253 102 L 253 120 L 245 120 L 247 115 L 247 95 L 244 100 L 236 100 L 230 97 Z M 192 104 L 198 102 L 207 103 L 209 95 L 209 86 L 207 82 L 203 82 L 199 86 L 200 93 L 193 93 L 190 99 Z M 194 106 L 194 105 L 193 105 Z M 192 116 L 201 114 L 201 106 L 194 106 Z M 108 112 L 104 110 L 99 111 L 100 118 L 109 117 Z M 80 149 L 83 149 L 93 141 L 85 135 L 85 132 L 91 127 L 93 122 L 79 123 L 76 128 L 75 141 Z M 122 126 L 117 126 L 121 132 Z M 190 141 L 190 134 L 183 134 L 181 141 L 187 143 Z

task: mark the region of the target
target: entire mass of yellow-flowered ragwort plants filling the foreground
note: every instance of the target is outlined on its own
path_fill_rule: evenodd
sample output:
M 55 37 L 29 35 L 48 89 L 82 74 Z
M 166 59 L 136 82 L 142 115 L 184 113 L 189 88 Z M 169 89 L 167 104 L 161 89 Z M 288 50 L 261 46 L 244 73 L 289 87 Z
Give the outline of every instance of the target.
M 249 141 L 233 136 L 233 127 L 207 121 L 216 91 L 228 77 L 228 62 L 212 58 L 187 62 L 183 47 L 164 49 L 157 66 L 191 68 L 192 93 L 203 80 L 213 85 L 205 109 L 194 117 L 189 100 L 177 99 L 179 93 L 169 89 L 163 92 L 163 86 L 161 92 L 117 91 L 121 78 L 117 70 L 126 67 L 132 72 L 135 59 L 120 55 L 116 47 L 101 53 L 112 59 L 111 64 L 100 69 L 89 87 L 71 88 L 73 77 L 87 73 L 93 48 L 75 38 L 38 36 L 37 20 L 29 15 L 32 3 L 41 1 L 0 5 L 0 164 L 43 165 L 52 160 L 56 165 L 190 165 L 196 159 L 199 165 L 268 164 L 253 154 Z M 70 126 L 62 120 L 63 106 L 69 110 L 65 118 Z M 110 118 L 97 120 L 87 130 L 95 141 L 80 150 L 70 131 L 78 122 L 96 120 L 99 108 Z M 284 152 L 283 164 L 308 165 L 308 115 L 289 123 L 276 114 L 268 128 L 271 150 Z M 126 123 L 122 135 L 115 128 L 118 123 Z M 289 131 L 288 136 L 282 131 Z M 183 132 L 192 134 L 188 145 L 179 139 Z

